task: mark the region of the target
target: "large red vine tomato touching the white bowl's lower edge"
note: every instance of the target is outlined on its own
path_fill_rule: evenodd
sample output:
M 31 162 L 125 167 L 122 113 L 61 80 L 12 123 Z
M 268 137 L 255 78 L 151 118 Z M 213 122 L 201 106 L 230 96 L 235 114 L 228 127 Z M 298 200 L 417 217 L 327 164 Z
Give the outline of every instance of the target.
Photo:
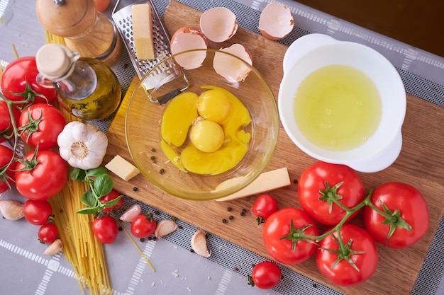
M 332 226 L 338 224 L 346 213 L 332 199 L 351 208 L 362 202 L 364 193 L 364 185 L 355 170 L 322 161 L 304 170 L 298 183 L 302 209 L 319 223 Z

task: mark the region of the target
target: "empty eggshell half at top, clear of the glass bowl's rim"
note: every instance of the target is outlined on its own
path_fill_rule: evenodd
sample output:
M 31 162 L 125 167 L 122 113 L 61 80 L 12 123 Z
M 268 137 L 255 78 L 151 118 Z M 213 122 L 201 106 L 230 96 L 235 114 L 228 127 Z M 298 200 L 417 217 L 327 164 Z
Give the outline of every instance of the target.
M 213 7 L 201 14 L 200 27 L 213 42 L 229 40 L 238 30 L 235 14 L 226 7 Z

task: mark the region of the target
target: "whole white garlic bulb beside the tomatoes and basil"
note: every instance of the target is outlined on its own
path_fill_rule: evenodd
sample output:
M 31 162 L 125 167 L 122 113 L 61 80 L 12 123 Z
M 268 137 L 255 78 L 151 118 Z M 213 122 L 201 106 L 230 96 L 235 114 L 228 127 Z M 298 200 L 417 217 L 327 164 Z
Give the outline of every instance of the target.
M 69 122 L 57 137 L 60 156 L 70 166 L 89 170 L 101 165 L 108 147 L 108 137 L 94 125 Z

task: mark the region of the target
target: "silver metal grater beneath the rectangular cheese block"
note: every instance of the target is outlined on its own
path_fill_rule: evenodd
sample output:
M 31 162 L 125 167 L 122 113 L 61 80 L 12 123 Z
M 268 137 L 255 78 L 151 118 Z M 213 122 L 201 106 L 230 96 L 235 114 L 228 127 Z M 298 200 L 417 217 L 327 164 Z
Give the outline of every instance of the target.
M 139 79 L 142 80 L 143 77 L 148 74 L 150 69 L 152 69 L 157 63 L 161 62 L 163 59 L 170 57 L 170 38 L 167 35 L 167 31 L 162 25 L 162 21 L 160 21 L 160 17 L 155 10 L 154 5 L 151 0 L 148 1 L 136 1 L 133 4 L 149 4 L 152 11 L 152 37 L 154 41 L 155 47 L 155 59 L 153 60 L 139 60 L 137 58 L 137 54 L 135 52 L 134 42 L 133 42 L 133 23 L 132 23 L 132 11 L 131 5 L 124 6 L 123 8 L 119 8 L 120 0 L 117 1 L 116 6 L 113 8 L 112 18 L 113 21 L 118 28 L 118 32 L 121 34 L 123 42 L 126 46 L 126 50 L 128 51 L 128 55 L 133 63 L 135 72 L 138 74 Z M 182 77 L 184 79 L 184 88 L 177 89 L 174 93 L 180 93 L 189 87 L 189 83 L 187 78 L 182 71 L 182 67 L 178 66 L 176 63 L 172 62 L 170 66 L 157 69 L 156 76 L 159 81 L 163 81 L 163 83 L 167 83 L 176 79 L 177 77 Z M 145 90 L 147 91 L 148 97 L 153 103 L 164 104 L 167 103 L 172 97 L 174 97 L 174 93 L 167 93 L 165 96 L 159 97 L 157 99 L 153 99 L 151 96 L 152 86 L 144 85 Z

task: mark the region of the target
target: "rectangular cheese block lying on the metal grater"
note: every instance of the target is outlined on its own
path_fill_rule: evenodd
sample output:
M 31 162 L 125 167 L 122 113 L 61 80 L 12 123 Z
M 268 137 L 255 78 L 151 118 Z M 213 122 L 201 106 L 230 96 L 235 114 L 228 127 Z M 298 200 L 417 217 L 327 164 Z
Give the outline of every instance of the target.
M 133 38 L 138 59 L 155 59 L 150 4 L 133 4 Z

